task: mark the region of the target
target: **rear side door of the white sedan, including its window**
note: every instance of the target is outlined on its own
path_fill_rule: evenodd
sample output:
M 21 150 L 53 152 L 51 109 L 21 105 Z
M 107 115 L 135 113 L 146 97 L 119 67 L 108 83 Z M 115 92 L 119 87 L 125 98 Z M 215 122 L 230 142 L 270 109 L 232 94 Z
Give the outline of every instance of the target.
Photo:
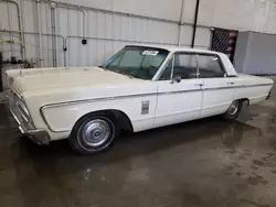
M 234 98 L 235 77 L 227 77 L 217 55 L 199 54 L 199 75 L 203 81 L 200 117 L 210 117 L 227 110 Z

